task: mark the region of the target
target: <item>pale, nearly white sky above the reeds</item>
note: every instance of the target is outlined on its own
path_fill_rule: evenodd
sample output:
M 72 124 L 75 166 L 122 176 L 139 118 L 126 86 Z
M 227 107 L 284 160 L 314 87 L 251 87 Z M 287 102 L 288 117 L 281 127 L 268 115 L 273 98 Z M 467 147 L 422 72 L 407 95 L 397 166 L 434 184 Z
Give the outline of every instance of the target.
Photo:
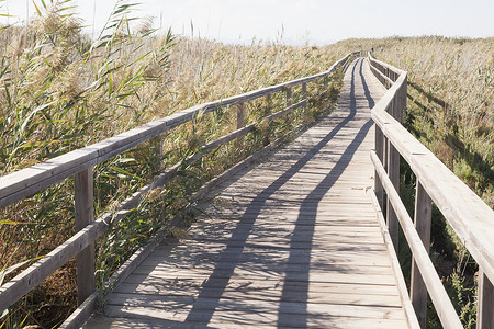
M 45 0 L 48 3 L 50 0 Z M 79 16 L 94 34 L 116 0 L 74 0 Z M 40 0 L 34 0 L 40 3 Z M 138 16 L 155 16 L 155 26 L 176 34 L 223 42 L 254 37 L 293 44 L 327 44 L 349 37 L 445 35 L 494 36 L 493 0 L 135 0 Z M 33 0 L 1 2 L 9 23 L 35 14 Z M 5 20 L 3 20 L 5 22 Z M 93 24 L 94 22 L 94 24 Z M 160 23 L 161 22 L 161 23 Z

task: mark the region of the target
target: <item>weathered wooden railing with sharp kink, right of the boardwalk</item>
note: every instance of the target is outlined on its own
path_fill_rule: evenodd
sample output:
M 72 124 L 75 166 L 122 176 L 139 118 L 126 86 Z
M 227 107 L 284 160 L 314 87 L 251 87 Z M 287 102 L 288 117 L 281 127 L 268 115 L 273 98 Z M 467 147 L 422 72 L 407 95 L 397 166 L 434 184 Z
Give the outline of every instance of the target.
M 371 70 L 389 88 L 371 111 L 375 122 L 374 192 L 397 249 L 398 224 L 412 250 L 411 299 L 425 328 L 429 294 L 445 328 L 462 328 L 429 258 L 433 202 L 479 264 L 478 328 L 494 328 L 494 212 L 401 124 L 406 72 L 369 54 Z M 400 156 L 416 175 L 415 218 L 400 198 Z M 384 193 L 385 192 L 385 193 Z

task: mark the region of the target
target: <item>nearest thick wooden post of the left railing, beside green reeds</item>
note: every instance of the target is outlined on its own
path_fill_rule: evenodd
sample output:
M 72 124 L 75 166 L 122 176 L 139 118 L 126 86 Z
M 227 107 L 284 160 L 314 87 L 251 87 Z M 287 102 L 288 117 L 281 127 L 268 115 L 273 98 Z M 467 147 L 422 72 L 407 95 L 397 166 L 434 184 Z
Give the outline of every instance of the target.
M 92 167 L 74 175 L 76 231 L 94 222 Z M 76 258 L 77 304 L 81 305 L 94 291 L 94 242 Z

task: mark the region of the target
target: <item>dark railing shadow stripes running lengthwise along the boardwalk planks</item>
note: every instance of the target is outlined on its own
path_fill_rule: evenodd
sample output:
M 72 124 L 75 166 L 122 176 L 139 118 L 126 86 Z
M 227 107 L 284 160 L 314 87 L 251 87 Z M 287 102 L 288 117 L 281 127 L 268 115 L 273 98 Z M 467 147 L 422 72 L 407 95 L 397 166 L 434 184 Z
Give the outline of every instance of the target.
M 355 120 L 357 114 L 357 101 L 355 94 L 355 73 L 357 66 L 360 65 L 360 76 L 362 79 L 364 95 L 369 105 L 373 106 L 374 101 L 372 100 L 370 92 L 368 90 L 367 83 L 364 82 L 364 78 L 362 75 L 362 60 L 359 64 L 353 66 L 352 68 L 352 77 L 351 77 L 351 89 L 349 99 L 344 99 L 340 102 L 341 106 L 349 107 L 349 113 L 346 117 L 343 118 L 323 139 L 321 139 L 314 147 L 310 150 L 305 151 L 305 155 L 301 157 L 294 164 L 292 164 L 285 172 L 283 172 L 277 180 L 274 180 L 268 188 L 262 190 L 259 194 L 257 194 L 250 203 L 247 205 L 244 215 L 237 222 L 237 225 L 232 231 L 232 236 L 224 241 L 225 249 L 220 252 L 220 256 L 216 254 L 206 254 L 206 259 L 211 259 L 214 262 L 214 270 L 207 280 L 203 282 L 201 285 L 201 290 L 199 295 L 194 300 L 187 300 L 189 298 L 168 298 L 168 300 L 176 299 L 176 304 L 172 305 L 170 311 L 173 309 L 179 309 L 183 307 L 192 307 L 187 316 L 186 322 L 189 324 L 202 324 L 207 325 L 217 307 L 220 306 L 220 299 L 223 296 L 231 277 L 233 276 L 235 269 L 239 265 L 238 261 L 243 256 L 245 248 L 252 247 L 251 243 L 247 242 L 247 239 L 251 236 L 251 231 L 254 225 L 256 223 L 257 216 L 262 211 L 262 207 L 266 205 L 267 201 L 273 196 L 273 194 L 279 191 L 283 184 L 285 184 L 291 178 L 293 178 L 297 172 L 300 172 L 307 162 L 314 158 L 347 124 L 349 124 L 352 120 Z M 367 121 L 361 129 L 358 132 L 355 139 L 348 145 L 345 152 L 341 155 L 339 160 L 335 163 L 335 166 L 328 171 L 326 177 L 319 182 L 319 184 L 310 192 L 310 194 L 303 201 L 300 213 L 296 222 L 294 223 L 294 229 L 291 232 L 290 237 L 290 248 L 283 248 L 283 250 L 290 250 L 288 260 L 285 261 L 284 266 L 284 283 L 281 291 L 281 297 L 277 309 L 272 309 L 272 311 L 278 311 L 278 326 L 284 327 L 287 324 L 283 321 L 284 316 L 293 314 L 293 303 L 287 302 L 291 300 L 291 284 L 296 282 L 297 285 L 297 298 L 296 298 L 296 325 L 300 327 L 305 327 L 307 325 L 307 320 L 310 314 L 306 309 L 307 300 L 308 300 L 308 275 L 311 265 L 314 266 L 314 263 L 311 264 L 311 252 L 296 252 L 297 243 L 303 241 L 307 243 L 308 249 L 312 249 L 312 239 L 314 235 L 314 224 L 316 220 L 316 213 L 318 202 L 323 197 L 323 195 L 333 186 L 333 184 L 338 180 L 339 175 L 344 172 L 344 170 L 348 167 L 351 158 L 355 155 L 355 151 L 359 147 L 359 145 L 364 140 L 367 134 L 369 133 L 372 126 L 372 121 Z M 214 229 L 214 228 L 211 228 Z M 360 247 L 351 247 L 351 250 L 359 250 L 364 248 Z M 190 256 L 190 254 L 189 254 Z M 245 256 L 245 254 L 244 254 Z M 269 268 L 269 264 L 279 263 L 280 259 L 277 259 L 272 253 L 270 254 L 251 254 L 249 253 L 249 261 L 256 261 L 257 263 L 266 264 Z M 228 263 L 228 266 L 225 266 L 225 263 Z M 334 271 L 339 271 L 345 273 L 348 269 L 345 265 L 335 265 L 332 268 Z M 149 269 L 151 271 L 153 269 Z M 276 271 L 279 271 L 278 269 Z M 296 273 L 296 274 L 294 274 Z M 282 274 L 282 273 L 281 273 Z M 296 275 L 296 277 L 292 277 L 292 275 Z M 215 295 L 217 298 L 211 298 L 212 295 Z M 201 302 L 202 300 L 202 302 Z M 204 307 L 204 300 L 207 300 L 206 307 Z M 197 303 L 201 302 L 201 303 Z M 170 306 L 170 305 L 169 305 Z M 252 311 L 262 311 L 262 309 L 257 309 L 256 305 L 245 305 L 244 307 L 250 308 Z M 234 314 L 231 314 L 233 318 L 235 318 Z M 147 317 L 148 320 L 154 320 L 151 316 Z M 290 321 L 292 322 L 294 318 L 290 317 Z M 166 320 L 165 322 L 160 320 L 161 325 L 172 326 L 175 322 L 172 320 Z M 327 324 L 330 325 L 330 324 Z

